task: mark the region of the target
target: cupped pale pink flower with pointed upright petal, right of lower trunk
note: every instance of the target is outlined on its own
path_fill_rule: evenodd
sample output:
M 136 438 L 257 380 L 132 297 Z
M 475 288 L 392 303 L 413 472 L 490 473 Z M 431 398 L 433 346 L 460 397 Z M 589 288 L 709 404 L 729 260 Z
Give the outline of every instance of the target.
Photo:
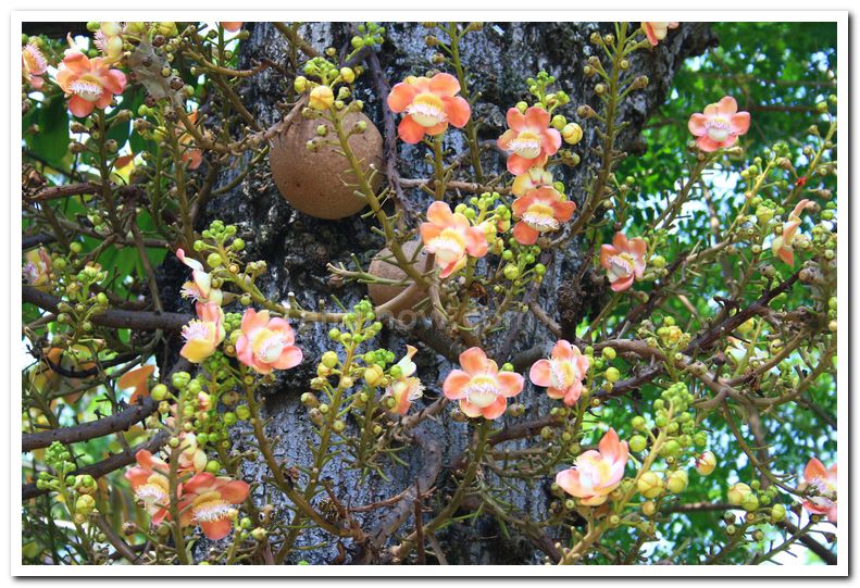
M 615 429 L 610 428 L 600 439 L 600 451 L 586 451 L 573 467 L 556 475 L 565 492 L 579 499 L 584 506 L 599 506 L 618 488 L 627 464 L 627 441 L 619 442 Z

